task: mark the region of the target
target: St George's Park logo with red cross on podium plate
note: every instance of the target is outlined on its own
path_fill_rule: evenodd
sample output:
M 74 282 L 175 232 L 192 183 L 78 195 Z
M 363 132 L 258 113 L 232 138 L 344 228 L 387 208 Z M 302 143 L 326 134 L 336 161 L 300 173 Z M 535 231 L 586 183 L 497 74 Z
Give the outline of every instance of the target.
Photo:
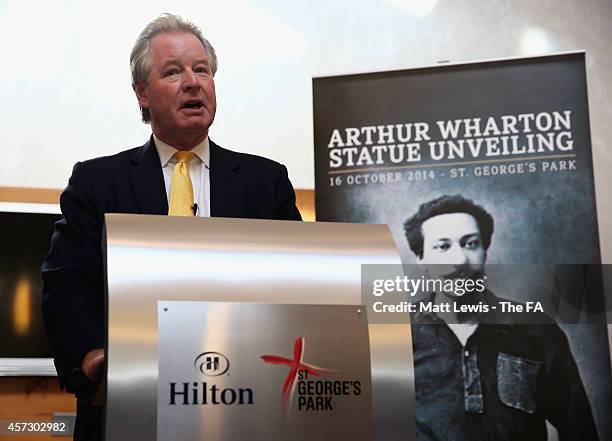
M 306 363 L 305 348 L 306 340 L 298 337 L 293 344 L 293 358 L 279 355 L 261 356 L 265 363 L 289 368 L 281 392 L 286 416 L 289 415 L 295 395 L 299 412 L 333 412 L 337 397 L 361 395 L 361 381 L 332 379 L 338 377 L 341 372 Z

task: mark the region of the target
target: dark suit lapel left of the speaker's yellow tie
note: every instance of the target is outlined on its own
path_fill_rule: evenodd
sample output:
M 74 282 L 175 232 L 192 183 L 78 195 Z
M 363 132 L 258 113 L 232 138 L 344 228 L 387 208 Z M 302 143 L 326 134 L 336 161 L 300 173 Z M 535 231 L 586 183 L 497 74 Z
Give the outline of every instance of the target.
M 164 175 L 153 137 L 130 159 L 130 182 L 143 214 L 168 214 Z

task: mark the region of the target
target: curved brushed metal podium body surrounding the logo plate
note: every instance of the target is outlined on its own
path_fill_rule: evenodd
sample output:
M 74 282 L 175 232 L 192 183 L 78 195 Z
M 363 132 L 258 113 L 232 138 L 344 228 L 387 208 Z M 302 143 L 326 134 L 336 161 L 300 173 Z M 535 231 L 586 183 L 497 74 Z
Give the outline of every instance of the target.
M 107 440 L 156 439 L 158 300 L 358 305 L 387 226 L 106 215 Z M 373 438 L 414 436 L 409 325 L 370 325 Z M 186 330 L 186 332 L 188 332 Z

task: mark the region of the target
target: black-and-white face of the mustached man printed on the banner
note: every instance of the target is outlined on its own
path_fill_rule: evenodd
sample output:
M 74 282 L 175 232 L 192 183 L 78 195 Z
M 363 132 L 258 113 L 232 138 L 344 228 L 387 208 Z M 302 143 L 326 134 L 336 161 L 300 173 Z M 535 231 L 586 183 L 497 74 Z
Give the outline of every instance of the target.
M 423 222 L 423 257 L 430 273 L 444 278 L 482 274 L 487 252 L 476 219 L 466 213 L 434 216 Z M 434 275 L 432 274 L 432 275 Z

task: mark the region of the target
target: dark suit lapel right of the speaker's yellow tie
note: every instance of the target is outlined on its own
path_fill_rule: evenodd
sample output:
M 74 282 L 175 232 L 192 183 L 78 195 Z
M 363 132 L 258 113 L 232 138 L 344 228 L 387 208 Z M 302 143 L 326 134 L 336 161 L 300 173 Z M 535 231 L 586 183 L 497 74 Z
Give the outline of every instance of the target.
M 245 184 L 232 152 L 210 141 L 210 214 L 242 217 Z

